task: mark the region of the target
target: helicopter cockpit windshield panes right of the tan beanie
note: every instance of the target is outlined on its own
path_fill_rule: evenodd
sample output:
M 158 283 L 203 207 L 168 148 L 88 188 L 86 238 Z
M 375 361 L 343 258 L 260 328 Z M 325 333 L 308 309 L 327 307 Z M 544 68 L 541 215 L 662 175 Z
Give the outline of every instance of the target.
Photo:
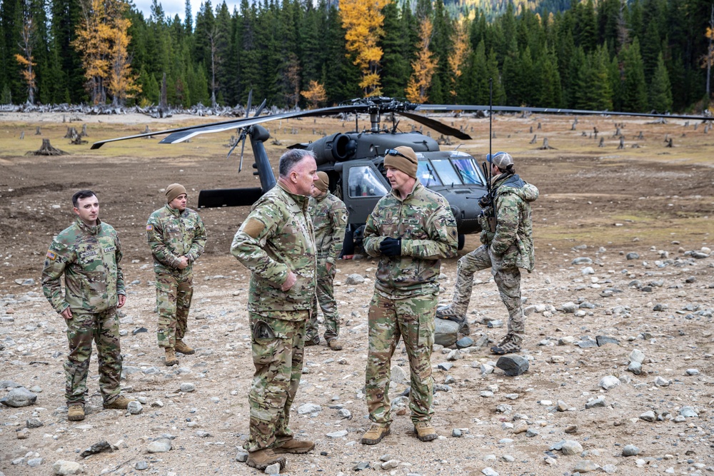
M 448 158 L 419 161 L 417 176 L 423 186 L 486 185 L 473 157 L 454 153 Z

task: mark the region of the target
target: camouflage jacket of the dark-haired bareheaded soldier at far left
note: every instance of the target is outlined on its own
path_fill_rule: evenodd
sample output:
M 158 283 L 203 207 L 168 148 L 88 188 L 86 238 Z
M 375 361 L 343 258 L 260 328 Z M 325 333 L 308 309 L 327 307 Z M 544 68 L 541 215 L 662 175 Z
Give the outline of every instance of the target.
M 116 295 L 124 294 L 119 236 L 97 219 L 86 226 L 77 218 L 54 237 L 42 270 L 42 291 L 58 313 L 66 308 L 99 313 L 114 308 Z M 64 273 L 65 293 L 61 276 Z

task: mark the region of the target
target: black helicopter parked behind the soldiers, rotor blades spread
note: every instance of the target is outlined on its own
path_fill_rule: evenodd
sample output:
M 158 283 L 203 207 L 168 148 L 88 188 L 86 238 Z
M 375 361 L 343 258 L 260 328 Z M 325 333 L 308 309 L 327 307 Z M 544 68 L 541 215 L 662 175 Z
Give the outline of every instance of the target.
M 250 96 L 248 107 L 250 111 Z M 238 128 L 241 135 L 228 152 L 242 143 L 245 147 L 246 136 L 251 138 L 251 148 L 255 163 L 253 172 L 260 179 L 261 186 L 256 188 L 225 188 L 218 190 L 203 190 L 198 195 L 198 208 L 251 206 L 263 193 L 273 188 L 276 178 L 268 160 L 263 143 L 270 137 L 266 128 L 260 124 L 288 118 L 311 116 L 328 116 L 336 114 L 354 114 L 355 130 L 349 133 L 333 133 L 311 143 L 298 143 L 288 148 L 302 148 L 313 151 L 319 171 L 330 176 L 331 191 L 346 204 L 349 218 L 348 228 L 343 246 L 343 255 L 353 254 L 356 246 L 361 245 L 361 237 L 367 216 L 373 210 L 379 198 L 389 192 L 390 186 L 383 169 L 386 151 L 398 146 L 410 146 L 417 153 L 418 179 L 424 186 L 441 193 L 451 206 L 458 227 L 458 249 L 463 248 L 464 236 L 468 233 L 481 231 L 476 218 L 481 213 L 478 198 L 486 193 L 486 176 L 473 156 L 458 151 L 441 151 L 438 142 L 419 132 L 398 131 L 398 121 L 395 114 L 411 118 L 445 136 L 454 136 L 469 140 L 471 136 L 459 129 L 447 126 L 432 118 L 415 113 L 416 111 L 501 111 L 501 112 L 531 112 L 531 113 L 569 113 L 569 114 L 615 114 L 608 111 L 587 111 L 579 109 L 530 108 L 516 106 L 453 106 L 415 104 L 396 98 L 371 97 L 353 99 L 339 106 L 319 108 L 311 111 L 291 111 L 268 116 L 261 116 L 266 101 L 258 106 L 255 115 L 236 118 L 230 121 L 206 124 L 205 126 L 190 126 L 174 128 L 167 131 L 141 133 L 135 136 L 108 139 L 92 144 L 91 148 L 99 148 L 105 143 L 122 141 L 130 138 L 157 136 L 169 134 L 161 143 L 179 143 L 203 133 L 232 131 Z M 368 114 L 371 127 L 359 130 L 358 114 Z M 392 127 L 380 128 L 381 116 L 391 114 Z M 676 116 L 657 113 L 616 113 L 625 116 L 666 118 L 686 118 L 693 120 L 711 120 L 703 116 Z M 241 164 L 243 151 L 241 149 Z

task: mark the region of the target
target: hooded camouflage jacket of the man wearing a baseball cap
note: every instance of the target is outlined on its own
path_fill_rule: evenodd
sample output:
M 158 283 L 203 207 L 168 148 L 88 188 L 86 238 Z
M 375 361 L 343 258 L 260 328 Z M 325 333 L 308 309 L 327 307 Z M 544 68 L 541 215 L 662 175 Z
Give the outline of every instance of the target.
M 496 206 L 496 233 L 488 231 L 486 218 L 480 216 L 481 243 L 490 245 L 492 253 L 503 255 L 504 265 L 523 268 L 530 273 L 535 268 L 531 202 L 538 198 L 538 188 L 517 175 L 498 176 L 493 181 L 492 193 Z M 490 207 L 484 212 L 489 213 Z

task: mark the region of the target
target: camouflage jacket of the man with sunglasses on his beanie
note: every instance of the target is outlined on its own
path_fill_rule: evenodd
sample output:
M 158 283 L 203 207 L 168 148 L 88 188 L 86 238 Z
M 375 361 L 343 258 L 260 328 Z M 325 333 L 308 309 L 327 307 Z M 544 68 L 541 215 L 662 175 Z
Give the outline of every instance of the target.
M 401 238 L 401 256 L 381 256 L 386 237 Z M 364 249 L 381 256 L 375 289 L 388 298 L 436 294 L 441 258 L 456 256 L 456 219 L 443 196 L 416 184 L 402 201 L 391 191 L 367 218 Z

